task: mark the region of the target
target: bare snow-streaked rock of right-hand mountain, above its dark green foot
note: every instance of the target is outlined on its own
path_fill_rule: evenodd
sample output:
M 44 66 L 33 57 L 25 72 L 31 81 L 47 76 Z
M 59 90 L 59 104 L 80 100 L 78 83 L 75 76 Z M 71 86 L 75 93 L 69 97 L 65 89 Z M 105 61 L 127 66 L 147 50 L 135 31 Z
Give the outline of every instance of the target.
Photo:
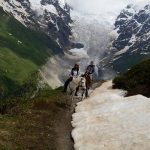
M 127 6 L 118 16 L 115 27 L 119 34 L 113 42 L 117 50 L 128 49 L 146 53 L 150 47 L 150 5 L 136 10 L 132 5 Z

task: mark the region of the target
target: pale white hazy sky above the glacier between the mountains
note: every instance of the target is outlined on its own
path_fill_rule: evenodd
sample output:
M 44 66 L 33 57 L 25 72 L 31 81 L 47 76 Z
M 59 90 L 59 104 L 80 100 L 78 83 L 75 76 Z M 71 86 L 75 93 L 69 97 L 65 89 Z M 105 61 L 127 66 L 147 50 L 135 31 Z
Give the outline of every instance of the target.
M 150 0 L 66 0 L 76 11 L 80 13 L 103 14 L 105 12 L 120 12 L 128 4 L 143 5 Z

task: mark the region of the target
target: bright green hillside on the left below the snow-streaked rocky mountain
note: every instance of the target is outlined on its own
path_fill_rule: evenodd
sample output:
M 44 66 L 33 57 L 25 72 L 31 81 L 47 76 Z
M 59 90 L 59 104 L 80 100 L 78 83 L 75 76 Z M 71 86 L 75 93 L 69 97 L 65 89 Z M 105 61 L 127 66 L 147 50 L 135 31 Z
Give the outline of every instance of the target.
M 45 64 L 48 57 L 61 52 L 46 34 L 26 28 L 0 8 L 1 91 L 13 92 Z

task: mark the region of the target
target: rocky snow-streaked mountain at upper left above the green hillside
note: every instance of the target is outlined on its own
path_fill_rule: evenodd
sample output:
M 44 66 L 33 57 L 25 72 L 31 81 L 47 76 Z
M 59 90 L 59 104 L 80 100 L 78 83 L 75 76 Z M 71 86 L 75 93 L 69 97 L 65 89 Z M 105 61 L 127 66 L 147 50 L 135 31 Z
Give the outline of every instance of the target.
M 1 0 L 0 6 L 22 24 L 47 33 L 64 50 L 83 47 L 70 42 L 70 7 L 64 0 Z

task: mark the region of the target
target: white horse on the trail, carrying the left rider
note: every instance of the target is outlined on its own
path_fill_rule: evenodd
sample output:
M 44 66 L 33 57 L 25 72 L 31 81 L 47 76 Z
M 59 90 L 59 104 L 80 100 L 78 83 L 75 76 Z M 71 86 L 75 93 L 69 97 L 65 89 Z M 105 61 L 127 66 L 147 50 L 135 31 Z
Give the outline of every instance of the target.
M 76 91 L 81 92 L 81 99 L 84 99 L 84 95 L 86 95 L 85 77 L 73 77 L 72 81 L 68 85 L 67 91 L 72 96 L 72 100 L 75 96 Z

